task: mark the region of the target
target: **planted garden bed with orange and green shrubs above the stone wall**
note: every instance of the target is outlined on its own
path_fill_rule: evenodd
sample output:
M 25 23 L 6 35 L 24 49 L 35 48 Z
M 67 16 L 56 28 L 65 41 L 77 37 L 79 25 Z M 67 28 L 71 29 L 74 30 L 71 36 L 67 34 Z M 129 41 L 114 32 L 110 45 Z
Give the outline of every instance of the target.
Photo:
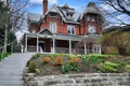
M 28 61 L 28 72 L 37 75 L 72 73 L 130 72 L 130 57 L 120 55 L 36 54 Z

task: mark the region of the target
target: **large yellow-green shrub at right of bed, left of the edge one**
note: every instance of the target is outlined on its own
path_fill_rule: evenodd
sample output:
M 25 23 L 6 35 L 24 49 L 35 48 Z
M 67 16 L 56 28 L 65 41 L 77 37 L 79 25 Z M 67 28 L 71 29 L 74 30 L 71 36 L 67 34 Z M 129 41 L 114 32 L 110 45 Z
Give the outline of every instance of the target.
M 110 61 L 106 61 L 100 64 L 100 69 L 103 72 L 117 72 L 118 64 Z

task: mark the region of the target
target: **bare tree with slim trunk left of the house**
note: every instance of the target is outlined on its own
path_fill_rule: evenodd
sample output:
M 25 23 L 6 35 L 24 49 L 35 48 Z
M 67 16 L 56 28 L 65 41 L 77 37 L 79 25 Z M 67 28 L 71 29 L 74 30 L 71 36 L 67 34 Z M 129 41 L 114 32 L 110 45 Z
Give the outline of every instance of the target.
M 5 0 L 4 2 L 4 5 L 9 9 L 3 16 L 4 52 L 6 52 L 8 30 L 17 31 L 21 29 L 26 13 L 27 1 L 28 0 Z

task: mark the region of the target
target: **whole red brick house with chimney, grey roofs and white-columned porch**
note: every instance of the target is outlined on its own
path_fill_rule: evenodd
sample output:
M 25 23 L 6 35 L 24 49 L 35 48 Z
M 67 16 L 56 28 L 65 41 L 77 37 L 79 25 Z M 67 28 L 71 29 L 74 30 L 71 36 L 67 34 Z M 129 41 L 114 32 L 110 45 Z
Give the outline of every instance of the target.
M 90 2 L 83 13 L 67 4 L 53 4 L 48 10 L 43 0 L 43 14 L 28 14 L 29 33 L 24 34 L 25 52 L 101 54 L 98 39 L 102 34 L 103 16 Z M 80 47 L 79 47 L 80 46 Z

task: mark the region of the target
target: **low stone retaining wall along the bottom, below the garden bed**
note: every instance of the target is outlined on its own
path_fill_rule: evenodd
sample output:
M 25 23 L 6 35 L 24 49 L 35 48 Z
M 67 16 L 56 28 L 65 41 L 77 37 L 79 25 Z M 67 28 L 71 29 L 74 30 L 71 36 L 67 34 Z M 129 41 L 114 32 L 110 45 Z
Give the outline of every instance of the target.
M 35 76 L 28 73 L 26 86 L 130 86 L 129 73 L 87 73 Z

